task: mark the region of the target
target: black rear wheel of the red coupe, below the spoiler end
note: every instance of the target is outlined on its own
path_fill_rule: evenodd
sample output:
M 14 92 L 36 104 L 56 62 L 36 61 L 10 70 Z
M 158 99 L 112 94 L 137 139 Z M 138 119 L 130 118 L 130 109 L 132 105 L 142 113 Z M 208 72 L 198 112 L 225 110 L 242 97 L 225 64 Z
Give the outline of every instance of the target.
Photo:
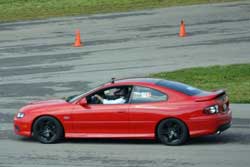
M 170 146 L 184 144 L 188 139 L 186 125 L 175 118 L 166 119 L 160 122 L 157 128 L 157 137 L 161 143 Z

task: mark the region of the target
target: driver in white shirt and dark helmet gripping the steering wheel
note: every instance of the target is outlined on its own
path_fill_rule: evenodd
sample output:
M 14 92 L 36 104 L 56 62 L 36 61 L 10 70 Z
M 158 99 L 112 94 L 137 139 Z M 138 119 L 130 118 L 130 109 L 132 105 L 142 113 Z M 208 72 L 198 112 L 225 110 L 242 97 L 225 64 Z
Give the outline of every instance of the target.
M 126 96 L 128 94 L 128 90 L 126 88 L 120 89 L 114 93 L 115 96 L 118 96 L 115 100 L 104 99 L 100 95 L 95 94 L 94 96 L 101 101 L 102 104 L 124 104 L 126 103 Z

